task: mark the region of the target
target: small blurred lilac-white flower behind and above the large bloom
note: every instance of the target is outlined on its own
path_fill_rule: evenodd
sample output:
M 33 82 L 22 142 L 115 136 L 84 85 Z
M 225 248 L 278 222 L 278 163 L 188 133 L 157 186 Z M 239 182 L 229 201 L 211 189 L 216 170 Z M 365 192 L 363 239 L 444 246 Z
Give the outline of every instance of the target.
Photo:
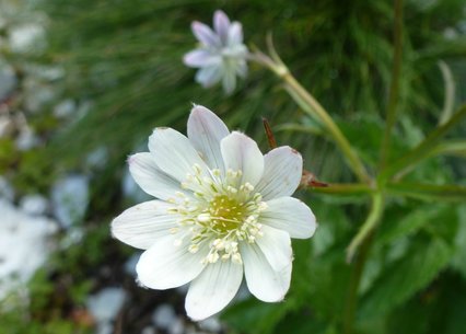
M 222 11 L 213 14 L 213 31 L 203 23 L 193 22 L 191 30 L 200 46 L 186 54 L 185 65 L 199 68 L 196 81 L 209 88 L 222 81 L 230 94 L 236 87 L 236 76 L 246 77 L 247 48 L 243 44 L 243 28 L 238 22 L 230 22 Z

